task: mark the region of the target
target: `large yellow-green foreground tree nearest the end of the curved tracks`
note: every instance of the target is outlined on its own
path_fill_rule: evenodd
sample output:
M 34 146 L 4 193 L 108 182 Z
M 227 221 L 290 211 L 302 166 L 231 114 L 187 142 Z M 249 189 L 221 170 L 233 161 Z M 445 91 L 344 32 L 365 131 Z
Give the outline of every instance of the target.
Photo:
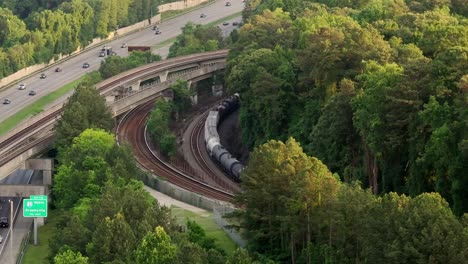
M 268 164 L 266 166 L 265 164 Z M 251 154 L 237 195 L 240 226 L 253 251 L 278 261 L 297 258 L 314 228 L 314 210 L 333 202 L 338 181 L 294 139 L 270 141 Z

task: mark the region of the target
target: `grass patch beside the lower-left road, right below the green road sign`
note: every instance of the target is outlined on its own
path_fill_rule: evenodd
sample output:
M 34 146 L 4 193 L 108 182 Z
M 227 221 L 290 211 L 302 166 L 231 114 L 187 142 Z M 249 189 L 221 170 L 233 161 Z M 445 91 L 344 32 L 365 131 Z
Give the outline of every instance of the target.
M 34 235 L 31 234 L 29 245 L 23 257 L 23 264 L 48 264 L 49 239 L 52 237 L 53 228 L 57 225 L 60 214 L 57 210 L 49 210 L 47 224 L 38 228 L 38 245 L 34 246 Z

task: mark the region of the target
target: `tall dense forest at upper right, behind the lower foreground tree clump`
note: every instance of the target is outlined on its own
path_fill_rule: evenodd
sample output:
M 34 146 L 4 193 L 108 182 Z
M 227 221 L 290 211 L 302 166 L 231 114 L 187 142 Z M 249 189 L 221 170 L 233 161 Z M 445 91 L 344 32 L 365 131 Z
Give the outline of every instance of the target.
M 249 1 L 226 69 L 250 149 L 293 136 L 377 194 L 468 212 L 468 20 L 457 1 Z

